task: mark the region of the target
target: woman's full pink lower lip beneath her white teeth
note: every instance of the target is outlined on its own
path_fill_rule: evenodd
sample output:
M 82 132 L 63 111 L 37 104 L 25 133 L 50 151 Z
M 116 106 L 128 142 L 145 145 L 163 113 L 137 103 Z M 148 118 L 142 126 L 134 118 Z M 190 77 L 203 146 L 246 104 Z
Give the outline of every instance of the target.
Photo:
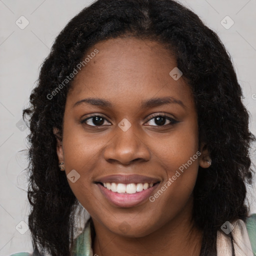
M 97 185 L 101 193 L 106 197 L 106 199 L 110 203 L 119 207 L 133 207 L 144 202 L 150 196 L 153 190 L 159 185 L 159 183 L 156 183 L 152 187 L 148 187 L 145 190 L 143 189 L 142 191 L 136 192 L 133 194 L 117 193 L 117 192 L 108 190 L 107 188 L 100 185 L 99 183 L 97 183 Z

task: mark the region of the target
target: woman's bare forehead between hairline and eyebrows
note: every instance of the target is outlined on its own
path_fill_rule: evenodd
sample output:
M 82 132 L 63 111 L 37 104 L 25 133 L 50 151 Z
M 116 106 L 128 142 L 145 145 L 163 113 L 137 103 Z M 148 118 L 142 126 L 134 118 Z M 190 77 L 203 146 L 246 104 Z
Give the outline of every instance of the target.
M 176 59 L 163 44 L 131 38 L 101 41 L 89 62 L 76 74 L 68 100 L 86 96 L 107 98 L 112 102 L 134 104 L 153 96 L 173 96 L 191 100 L 189 87 L 182 76 L 174 80 L 169 72 L 176 68 Z

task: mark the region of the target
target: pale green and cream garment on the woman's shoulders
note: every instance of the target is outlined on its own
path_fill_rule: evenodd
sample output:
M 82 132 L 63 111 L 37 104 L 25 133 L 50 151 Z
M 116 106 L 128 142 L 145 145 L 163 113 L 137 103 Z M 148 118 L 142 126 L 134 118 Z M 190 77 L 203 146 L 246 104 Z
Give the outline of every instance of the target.
M 238 219 L 231 223 L 234 237 L 236 256 L 256 256 L 256 213 L 252 214 L 245 223 Z M 82 233 L 75 239 L 73 256 L 93 256 L 91 248 L 90 224 L 86 223 Z M 217 231 L 217 256 L 231 255 L 230 239 L 222 231 Z M 26 252 L 15 253 L 10 256 L 30 256 Z

